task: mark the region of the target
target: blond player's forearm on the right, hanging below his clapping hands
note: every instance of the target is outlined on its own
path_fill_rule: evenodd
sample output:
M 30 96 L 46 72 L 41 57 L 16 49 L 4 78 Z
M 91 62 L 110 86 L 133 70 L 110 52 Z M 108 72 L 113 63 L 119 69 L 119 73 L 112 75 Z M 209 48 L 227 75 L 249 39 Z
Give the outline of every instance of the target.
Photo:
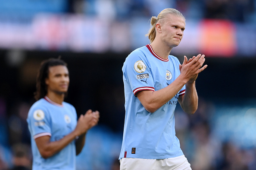
M 181 108 L 189 114 L 194 114 L 197 111 L 198 96 L 195 84 L 195 82 L 186 84 L 186 92 L 181 101 Z

